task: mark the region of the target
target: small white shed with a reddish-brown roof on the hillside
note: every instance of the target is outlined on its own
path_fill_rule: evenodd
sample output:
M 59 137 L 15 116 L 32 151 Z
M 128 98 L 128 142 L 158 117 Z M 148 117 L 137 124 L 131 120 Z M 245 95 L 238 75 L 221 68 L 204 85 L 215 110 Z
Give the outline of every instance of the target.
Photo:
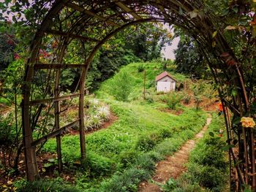
M 163 91 L 164 93 L 175 91 L 176 80 L 167 72 L 162 72 L 156 77 L 157 92 Z

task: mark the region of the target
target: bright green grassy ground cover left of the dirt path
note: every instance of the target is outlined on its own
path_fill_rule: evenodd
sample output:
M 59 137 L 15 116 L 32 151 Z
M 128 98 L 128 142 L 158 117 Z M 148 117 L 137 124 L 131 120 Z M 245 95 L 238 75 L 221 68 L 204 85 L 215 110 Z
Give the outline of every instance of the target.
M 129 102 L 116 101 L 111 95 L 110 87 L 116 83 L 113 78 L 103 82 L 96 93 L 118 120 L 86 136 L 86 161 L 75 169 L 76 185 L 81 191 L 136 191 L 140 180 L 151 177 L 157 161 L 178 150 L 206 122 L 207 114 L 200 110 L 180 106 L 181 115 L 159 111 L 159 108 L 167 108 L 167 104 L 159 101 L 154 91 L 154 78 L 162 72 L 162 66 L 157 63 L 143 64 L 147 91 L 154 98 L 152 102 L 144 101 L 143 73 L 138 72 L 138 65 L 129 64 L 121 69 L 134 81 Z M 170 74 L 176 80 L 186 78 Z M 79 136 L 65 136 L 61 140 L 63 160 L 73 167 L 80 158 Z M 43 151 L 56 153 L 56 140 L 50 139 Z

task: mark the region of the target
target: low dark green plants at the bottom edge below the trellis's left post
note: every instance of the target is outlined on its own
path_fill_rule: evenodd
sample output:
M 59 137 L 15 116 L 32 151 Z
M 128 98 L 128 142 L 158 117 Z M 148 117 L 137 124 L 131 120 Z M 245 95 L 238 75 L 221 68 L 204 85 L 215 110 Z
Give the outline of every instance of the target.
M 34 182 L 24 182 L 22 187 L 18 188 L 20 192 L 78 192 L 75 186 L 64 184 L 59 180 L 35 180 Z

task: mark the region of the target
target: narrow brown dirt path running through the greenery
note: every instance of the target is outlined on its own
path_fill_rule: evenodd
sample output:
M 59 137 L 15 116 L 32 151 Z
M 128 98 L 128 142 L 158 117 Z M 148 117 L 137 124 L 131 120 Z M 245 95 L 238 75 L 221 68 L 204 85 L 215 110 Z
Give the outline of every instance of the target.
M 203 137 L 203 134 L 206 132 L 206 129 L 208 128 L 208 125 L 210 125 L 210 123 L 211 118 L 207 118 L 206 126 L 204 126 L 202 130 L 198 134 L 196 134 L 193 139 L 188 140 L 176 153 L 174 153 L 171 156 L 167 156 L 167 158 L 164 161 L 160 161 L 156 165 L 156 172 L 152 177 L 152 180 L 154 180 L 157 183 L 165 184 L 165 182 L 167 182 L 167 180 L 169 180 L 170 177 L 176 179 L 183 172 L 185 172 L 187 168 L 186 166 L 184 166 L 184 164 L 186 164 L 188 161 L 190 151 L 195 147 L 197 140 Z M 158 192 L 162 190 L 159 187 L 159 185 L 156 185 L 154 183 L 143 182 L 140 183 L 138 191 Z

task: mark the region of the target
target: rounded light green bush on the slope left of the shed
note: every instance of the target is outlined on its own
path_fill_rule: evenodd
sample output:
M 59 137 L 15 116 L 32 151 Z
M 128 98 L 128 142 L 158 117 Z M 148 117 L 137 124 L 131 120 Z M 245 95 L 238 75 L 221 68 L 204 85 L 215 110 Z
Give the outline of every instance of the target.
M 132 92 L 132 77 L 127 72 L 120 72 L 113 78 L 110 93 L 118 101 L 127 101 L 129 94 Z

